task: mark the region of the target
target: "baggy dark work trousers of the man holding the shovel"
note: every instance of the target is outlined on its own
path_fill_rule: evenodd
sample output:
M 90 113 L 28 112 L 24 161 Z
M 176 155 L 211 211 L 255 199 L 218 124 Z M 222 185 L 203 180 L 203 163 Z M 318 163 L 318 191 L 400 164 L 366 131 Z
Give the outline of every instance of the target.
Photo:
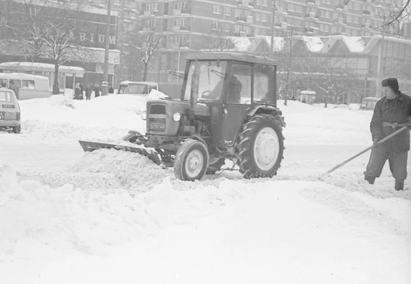
M 405 180 L 407 178 L 408 151 L 390 152 L 384 146 L 372 148 L 367 169 L 364 172 L 366 177 L 380 177 L 385 161 L 388 159 L 389 169 L 395 179 Z

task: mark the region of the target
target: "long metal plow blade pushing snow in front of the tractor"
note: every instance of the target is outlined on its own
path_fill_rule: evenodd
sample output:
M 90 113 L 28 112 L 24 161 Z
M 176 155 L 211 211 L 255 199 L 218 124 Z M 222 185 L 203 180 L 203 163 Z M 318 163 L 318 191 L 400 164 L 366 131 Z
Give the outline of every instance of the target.
M 94 150 L 98 149 L 116 149 L 116 150 L 125 150 L 133 153 L 138 153 L 140 155 L 146 156 L 148 159 L 155 162 L 157 165 L 161 164 L 161 160 L 156 151 L 145 149 L 145 148 L 138 148 L 133 146 L 124 146 L 118 144 L 109 144 L 109 143 L 101 143 L 101 142 L 89 142 L 89 141 L 82 141 L 79 140 L 80 145 L 83 147 L 84 152 L 93 152 Z

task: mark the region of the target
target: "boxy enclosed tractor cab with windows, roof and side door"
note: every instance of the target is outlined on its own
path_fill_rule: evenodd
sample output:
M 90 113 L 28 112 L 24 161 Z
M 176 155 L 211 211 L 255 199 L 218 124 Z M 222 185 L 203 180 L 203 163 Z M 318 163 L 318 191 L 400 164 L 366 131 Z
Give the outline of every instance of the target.
M 259 56 L 206 52 L 187 58 L 181 101 L 210 107 L 213 144 L 233 146 L 251 109 L 276 107 L 276 64 Z

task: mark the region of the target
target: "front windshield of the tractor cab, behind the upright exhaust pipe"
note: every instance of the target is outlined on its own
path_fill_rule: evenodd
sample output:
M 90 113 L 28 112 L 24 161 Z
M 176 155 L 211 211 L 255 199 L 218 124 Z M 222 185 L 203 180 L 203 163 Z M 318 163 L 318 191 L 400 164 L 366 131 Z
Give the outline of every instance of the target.
M 199 61 L 197 64 L 199 70 L 197 101 L 221 100 L 222 84 L 226 74 L 227 61 Z M 194 69 L 195 62 L 191 61 L 184 91 L 184 101 L 190 100 Z

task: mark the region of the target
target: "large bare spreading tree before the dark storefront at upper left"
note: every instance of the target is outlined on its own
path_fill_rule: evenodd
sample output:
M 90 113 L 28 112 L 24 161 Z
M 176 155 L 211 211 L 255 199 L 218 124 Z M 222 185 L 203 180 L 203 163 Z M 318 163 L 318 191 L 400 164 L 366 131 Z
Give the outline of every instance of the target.
M 32 58 L 48 59 L 54 64 L 53 94 L 59 93 L 59 67 L 86 57 L 87 40 L 75 36 L 78 29 L 76 11 L 70 4 L 33 0 L 23 2 L 23 13 L 16 18 L 15 36 Z M 80 8 L 79 6 L 77 8 Z

